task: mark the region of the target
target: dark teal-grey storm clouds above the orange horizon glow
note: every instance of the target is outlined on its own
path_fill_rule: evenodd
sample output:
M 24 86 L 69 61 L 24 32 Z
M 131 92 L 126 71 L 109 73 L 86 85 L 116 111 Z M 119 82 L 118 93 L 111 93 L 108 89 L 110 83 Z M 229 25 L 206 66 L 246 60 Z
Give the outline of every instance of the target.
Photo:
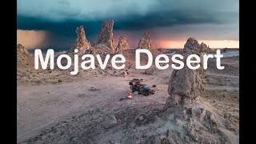
M 75 29 L 81 25 L 86 29 L 86 37 L 93 43 L 102 21 L 107 19 L 114 20 L 114 30 L 134 30 L 137 31 L 136 34 L 150 29 L 153 34 L 158 35 L 154 30 L 175 27 L 174 34 L 179 35 L 182 30 L 177 30 L 177 27 L 190 25 L 207 25 L 208 27 L 202 30 L 208 32 L 210 25 L 216 25 L 215 30 L 219 30 L 219 33 L 214 32 L 210 38 L 220 38 L 218 34 L 225 27 L 226 30 L 230 30 L 230 26 L 236 26 L 238 29 L 238 15 L 237 0 L 45 0 L 39 3 L 18 0 L 18 29 L 48 30 L 52 34 L 54 46 L 63 45 L 63 41 L 70 43 L 66 46 L 71 46 L 76 37 Z M 218 28 L 218 25 L 222 28 Z M 200 29 L 196 30 L 194 33 L 199 35 Z M 236 31 L 238 38 L 238 30 L 230 30 L 226 31 L 226 34 L 230 35 L 225 35 L 224 39 L 234 38 L 231 36 L 234 35 L 232 31 Z M 186 35 L 184 30 L 182 34 Z M 165 36 L 168 37 L 168 34 L 163 37 Z

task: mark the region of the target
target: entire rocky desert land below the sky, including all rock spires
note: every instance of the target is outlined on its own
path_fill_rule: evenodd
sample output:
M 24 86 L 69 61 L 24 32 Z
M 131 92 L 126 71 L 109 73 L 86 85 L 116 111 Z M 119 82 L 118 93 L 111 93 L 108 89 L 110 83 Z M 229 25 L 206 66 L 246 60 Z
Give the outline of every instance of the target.
M 77 44 L 81 52 L 112 57 L 113 24 L 103 22 L 96 45 L 84 49 Z M 108 63 L 105 70 L 79 70 L 75 76 L 71 70 L 34 70 L 33 55 L 17 46 L 18 143 L 238 143 L 238 57 L 222 58 L 224 70 L 214 59 L 207 70 L 136 70 L 135 49 L 126 49 L 128 42 L 120 39 L 124 70 Z M 138 47 L 150 49 L 154 58 L 162 54 L 151 49 L 149 31 Z M 194 38 L 180 50 L 185 57 L 205 52 L 208 47 Z M 146 60 L 142 54 L 142 64 Z M 127 99 L 132 78 L 156 86 L 155 94 Z

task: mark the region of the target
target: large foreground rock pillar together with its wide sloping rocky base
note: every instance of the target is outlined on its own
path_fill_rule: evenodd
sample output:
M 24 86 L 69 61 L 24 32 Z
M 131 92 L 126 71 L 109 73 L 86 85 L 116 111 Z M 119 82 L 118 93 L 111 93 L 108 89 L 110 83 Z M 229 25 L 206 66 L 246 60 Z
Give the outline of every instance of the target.
M 196 39 L 189 38 L 183 49 L 183 62 L 189 54 L 198 54 L 202 58 L 202 54 L 207 53 L 206 48 Z M 187 66 L 174 70 L 168 86 L 170 97 L 162 113 L 166 115 L 163 119 L 166 124 L 158 128 L 166 131 L 153 134 L 141 143 L 238 143 L 238 133 L 226 125 L 232 121 L 227 121 L 225 115 L 215 111 L 210 103 L 199 100 L 205 86 L 202 63 L 197 70 L 190 70 Z

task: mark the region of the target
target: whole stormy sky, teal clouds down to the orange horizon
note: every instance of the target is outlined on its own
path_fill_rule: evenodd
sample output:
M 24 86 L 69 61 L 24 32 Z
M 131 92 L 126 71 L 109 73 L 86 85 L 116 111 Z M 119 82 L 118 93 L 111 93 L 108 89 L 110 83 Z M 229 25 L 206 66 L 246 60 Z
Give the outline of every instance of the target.
M 102 21 L 110 19 L 115 44 L 122 35 L 137 47 L 150 30 L 156 48 L 183 48 L 190 37 L 210 48 L 239 47 L 238 0 L 18 0 L 17 43 L 70 49 L 76 27 L 84 26 L 93 44 Z

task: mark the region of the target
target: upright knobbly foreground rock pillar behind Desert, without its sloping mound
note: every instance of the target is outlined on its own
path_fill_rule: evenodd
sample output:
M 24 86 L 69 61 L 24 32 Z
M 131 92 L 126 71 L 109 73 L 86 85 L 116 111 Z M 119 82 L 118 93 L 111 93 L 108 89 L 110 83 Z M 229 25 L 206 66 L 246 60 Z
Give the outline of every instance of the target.
M 189 38 L 184 46 L 183 62 L 186 64 L 186 58 L 190 54 L 198 54 L 202 59 L 202 51 L 198 41 L 194 38 Z M 197 64 L 191 64 L 197 65 Z M 205 70 L 201 66 L 197 70 L 191 70 L 186 65 L 181 70 L 174 70 L 170 76 L 170 82 L 168 86 L 168 98 L 167 106 L 177 106 L 178 104 L 188 105 L 195 102 L 198 96 L 205 90 Z

